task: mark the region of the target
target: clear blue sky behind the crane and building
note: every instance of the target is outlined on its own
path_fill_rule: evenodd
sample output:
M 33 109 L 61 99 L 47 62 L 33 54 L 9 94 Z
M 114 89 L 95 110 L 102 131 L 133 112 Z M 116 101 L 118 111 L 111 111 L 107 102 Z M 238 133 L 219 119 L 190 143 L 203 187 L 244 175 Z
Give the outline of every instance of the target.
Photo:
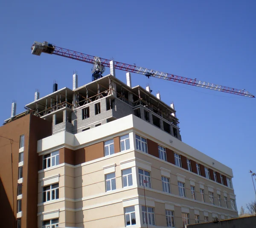
M 256 95 L 255 1 L 1 1 L 0 121 L 58 88 L 90 82 L 91 65 L 59 56 L 31 55 L 34 40 L 102 58 L 247 89 Z M 106 69 L 106 74 L 109 69 Z M 125 81 L 125 72 L 116 71 Z M 132 74 L 172 101 L 185 143 L 233 169 L 237 206 L 255 199 L 255 98 Z

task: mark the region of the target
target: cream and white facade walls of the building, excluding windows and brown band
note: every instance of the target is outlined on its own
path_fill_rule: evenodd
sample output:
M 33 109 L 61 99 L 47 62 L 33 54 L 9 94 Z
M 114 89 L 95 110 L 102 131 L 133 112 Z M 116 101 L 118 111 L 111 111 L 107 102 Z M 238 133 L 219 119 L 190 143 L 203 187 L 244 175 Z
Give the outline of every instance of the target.
M 150 172 L 151 188 L 145 187 L 145 199 L 147 207 L 154 208 L 154 227 L 167 226 L 166 210 L 174 212 L 176 228 L 183 227 L 182 213 L 189 214 L 190 224 L 195 223 L 195 215 L 199 215 L 200 222 L 204 222 L 205 216 L 209 221 L 215 216 L 218 219 L 238 216 L 238 211 L 230 206 L 230 199 L 236 199 L 232 188 L 138 150 L 135 135 L 232 178 L 229 167 L 134 115 L 77 134 L 61 132 L 49 136 L 38 141 L 38 155 L 63 147 L 79 150 L 126 134 L 129 134 L 130 141 L 128 150 L 79 165 L 62 163 L 38 171 L 38 228 L 42 227 L 42 221 L 55 218 L 59 219 L 59 227 L 123 228 L 126 226 L 124 208 L 129 206 L 134 206 L 136 216 L 136 225 L 131 226 L 146 227 L 143 224 L 145 200 L 139 169 Z M 122 170 L 127 168 L 132 170 L 133 185 L 123 188 Z M 115 173 L 116 190 L 106 191 L 105 175 L 108 173 Z M 171 193 L 163 191 L 162 176 L 169 178 Z M 179 195 L 178 181 L 185 184 L 186 197 Z M 59 199 L 43 203 L 43 187 L 55 183 L 59 184 Z M 196 199 L 192 199 L 191 186 L 195 187 Z M 205 202 L 202 202 L 200 189 L 204 189 Z M 215 205 L 209 202 L 209 191 L 214 193 Z M 218 194 L 221 195 L 221 206 L 218 205 Z M 224 196 L 229 208 L 225 207 Z

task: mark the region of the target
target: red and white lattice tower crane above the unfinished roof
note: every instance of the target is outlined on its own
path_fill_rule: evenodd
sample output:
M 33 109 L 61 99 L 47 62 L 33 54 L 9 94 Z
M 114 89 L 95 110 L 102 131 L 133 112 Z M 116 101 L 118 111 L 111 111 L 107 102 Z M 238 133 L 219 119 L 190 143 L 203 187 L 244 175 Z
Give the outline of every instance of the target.
M 96 57 L 93 55 L 87 55 L 83 54 L 81 52 L 76 52 L 72 51 L 69 49 L 64 49 L 58 46 L 55 46 L 52 43 L 48 43 L 44 41 L 44 43 L 40 43 L 35 41 L 32 46 L 32 54 L 33 55 L 41 55 L 42 52 L 48 53 L 51 55 L 60 55 L 63 57 L 83 61 L 86 63 L 91 63 L 93 64 L 92 68 L 92 81 L 97 80 L 102 77 L 102 73 L 105 71 L 105 66 L 110 67 L 111 66 L 111 60 L 105 59 L 105 58 L 100 58 Z M 235 89 L 235 88 L 230 88 L 226 86 L 221 86 L 205 81 L 200 81 L 196 78 L 185 78 L 182 76 L 178 75 L 173 75 L 169 73 L 164 73 L 160 72 L 157 70 L 152 70 L 140 66 L 136 66 L 135 64 L 127 64 L 127 63 L 121 63 L 121 62 L 114 62 L 114 68 L 115 69 L 120 69 L 124 70 L 127 72 L 132 72 L 132 73 L 137 73 L 141 75 L 145 75 L 146 77 L 154 77 L 154 78 L 161 78 L 165 79 L 168 81 L 175 81 L 178 83 L 183 83 L 191 86 L 196 86 L 196 87 L 201 87 L 201 88 L 206 88 L 206 89 L 212 89 L 220 92 L 227 92 L 227 93 L 232 93 L 236 95 L 241 95 L 245 97 L 250 97 L 250 98 L 255 98 L 254 95 L 252 95 L 250 92 L 246 91 L 245 89 Z

